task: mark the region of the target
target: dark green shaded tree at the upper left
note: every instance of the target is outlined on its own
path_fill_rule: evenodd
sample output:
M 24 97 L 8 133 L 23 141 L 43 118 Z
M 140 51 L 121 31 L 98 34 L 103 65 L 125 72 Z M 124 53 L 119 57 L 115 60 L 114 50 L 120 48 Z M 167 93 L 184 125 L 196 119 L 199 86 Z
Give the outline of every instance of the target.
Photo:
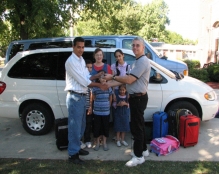
M 96 0 L 1 0 L 0 46 L 6 48 L 12 40 L 69 35 L 68 28 L 76 23 L 77 14 L 89 11 L 90 8 L 96 10 L 97 2 Z

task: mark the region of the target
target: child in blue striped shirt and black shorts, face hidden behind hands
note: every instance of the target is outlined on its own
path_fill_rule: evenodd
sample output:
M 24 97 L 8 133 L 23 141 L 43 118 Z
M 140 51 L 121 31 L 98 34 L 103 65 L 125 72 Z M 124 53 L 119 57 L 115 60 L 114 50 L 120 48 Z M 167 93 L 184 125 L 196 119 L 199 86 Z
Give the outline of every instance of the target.
M 96 80 L 100 82 L 100 80 Z M 94 138 L 96 138 L 96 146 L 94 150 L 99 150 L 100 137 L 103 137 L 103 150 L 107 151 L 109 148 L 106 144 L 106 139 L 109 137 L 109 118 L 110 118 L 110 106 L 112 103 L 113 91 L 111 88 L 107 90 L 101 90 L 94 87 L 93 90 L 93 114 L 94 114 Z

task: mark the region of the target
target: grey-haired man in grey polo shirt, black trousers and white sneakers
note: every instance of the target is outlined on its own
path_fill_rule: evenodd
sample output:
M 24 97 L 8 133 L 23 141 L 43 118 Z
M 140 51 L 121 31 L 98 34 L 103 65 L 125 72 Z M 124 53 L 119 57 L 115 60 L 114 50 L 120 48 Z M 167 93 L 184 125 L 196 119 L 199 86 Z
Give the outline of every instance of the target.
M 132 159 L 126 163 L 126 166 L 132 167 L 145 162 L 144 157 L 149 155 L 146 145 L 144 110 L 148 102 L 148 82 L 150 76 L 150 62 L 144 53 L 144 40 L 136 37 L 132 41 L 132 51 L 136 60 L 132 66 L 131 72 L 126 76 L 105 75 L 108 86 L 117 86 L 121 83 L 127 84 L 127 91 L 130 95 L 129 105 L 131 112 L 131 133 L 134 137 L 134 154 Z

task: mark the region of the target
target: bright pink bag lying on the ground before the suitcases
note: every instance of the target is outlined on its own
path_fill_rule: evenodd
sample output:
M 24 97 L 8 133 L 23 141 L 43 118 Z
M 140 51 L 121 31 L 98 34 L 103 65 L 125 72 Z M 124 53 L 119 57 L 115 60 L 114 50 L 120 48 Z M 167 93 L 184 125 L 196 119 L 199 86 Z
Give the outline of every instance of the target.
M 155 138 L 150 143 L 151 152 L 157 156 L 169 155 L 179 149 L 180 142 L 172 135 L 166 135 L 162 138 Z

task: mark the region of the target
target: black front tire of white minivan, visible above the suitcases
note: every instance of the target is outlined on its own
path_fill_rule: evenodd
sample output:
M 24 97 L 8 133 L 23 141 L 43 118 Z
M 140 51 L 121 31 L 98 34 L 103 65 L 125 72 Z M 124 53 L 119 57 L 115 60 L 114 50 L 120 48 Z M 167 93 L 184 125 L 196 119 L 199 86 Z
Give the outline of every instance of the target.
M 167 110 L 167 113 L 170 110 L 175 110 L 175 109 L 187 109 L 189 110 L 193 115 L 195 116 L 199 116 L 199 112 L 197 110 L 197 108 L 190 102 L 188 101 L 178 101 L 176 103 L 173 103 Z

